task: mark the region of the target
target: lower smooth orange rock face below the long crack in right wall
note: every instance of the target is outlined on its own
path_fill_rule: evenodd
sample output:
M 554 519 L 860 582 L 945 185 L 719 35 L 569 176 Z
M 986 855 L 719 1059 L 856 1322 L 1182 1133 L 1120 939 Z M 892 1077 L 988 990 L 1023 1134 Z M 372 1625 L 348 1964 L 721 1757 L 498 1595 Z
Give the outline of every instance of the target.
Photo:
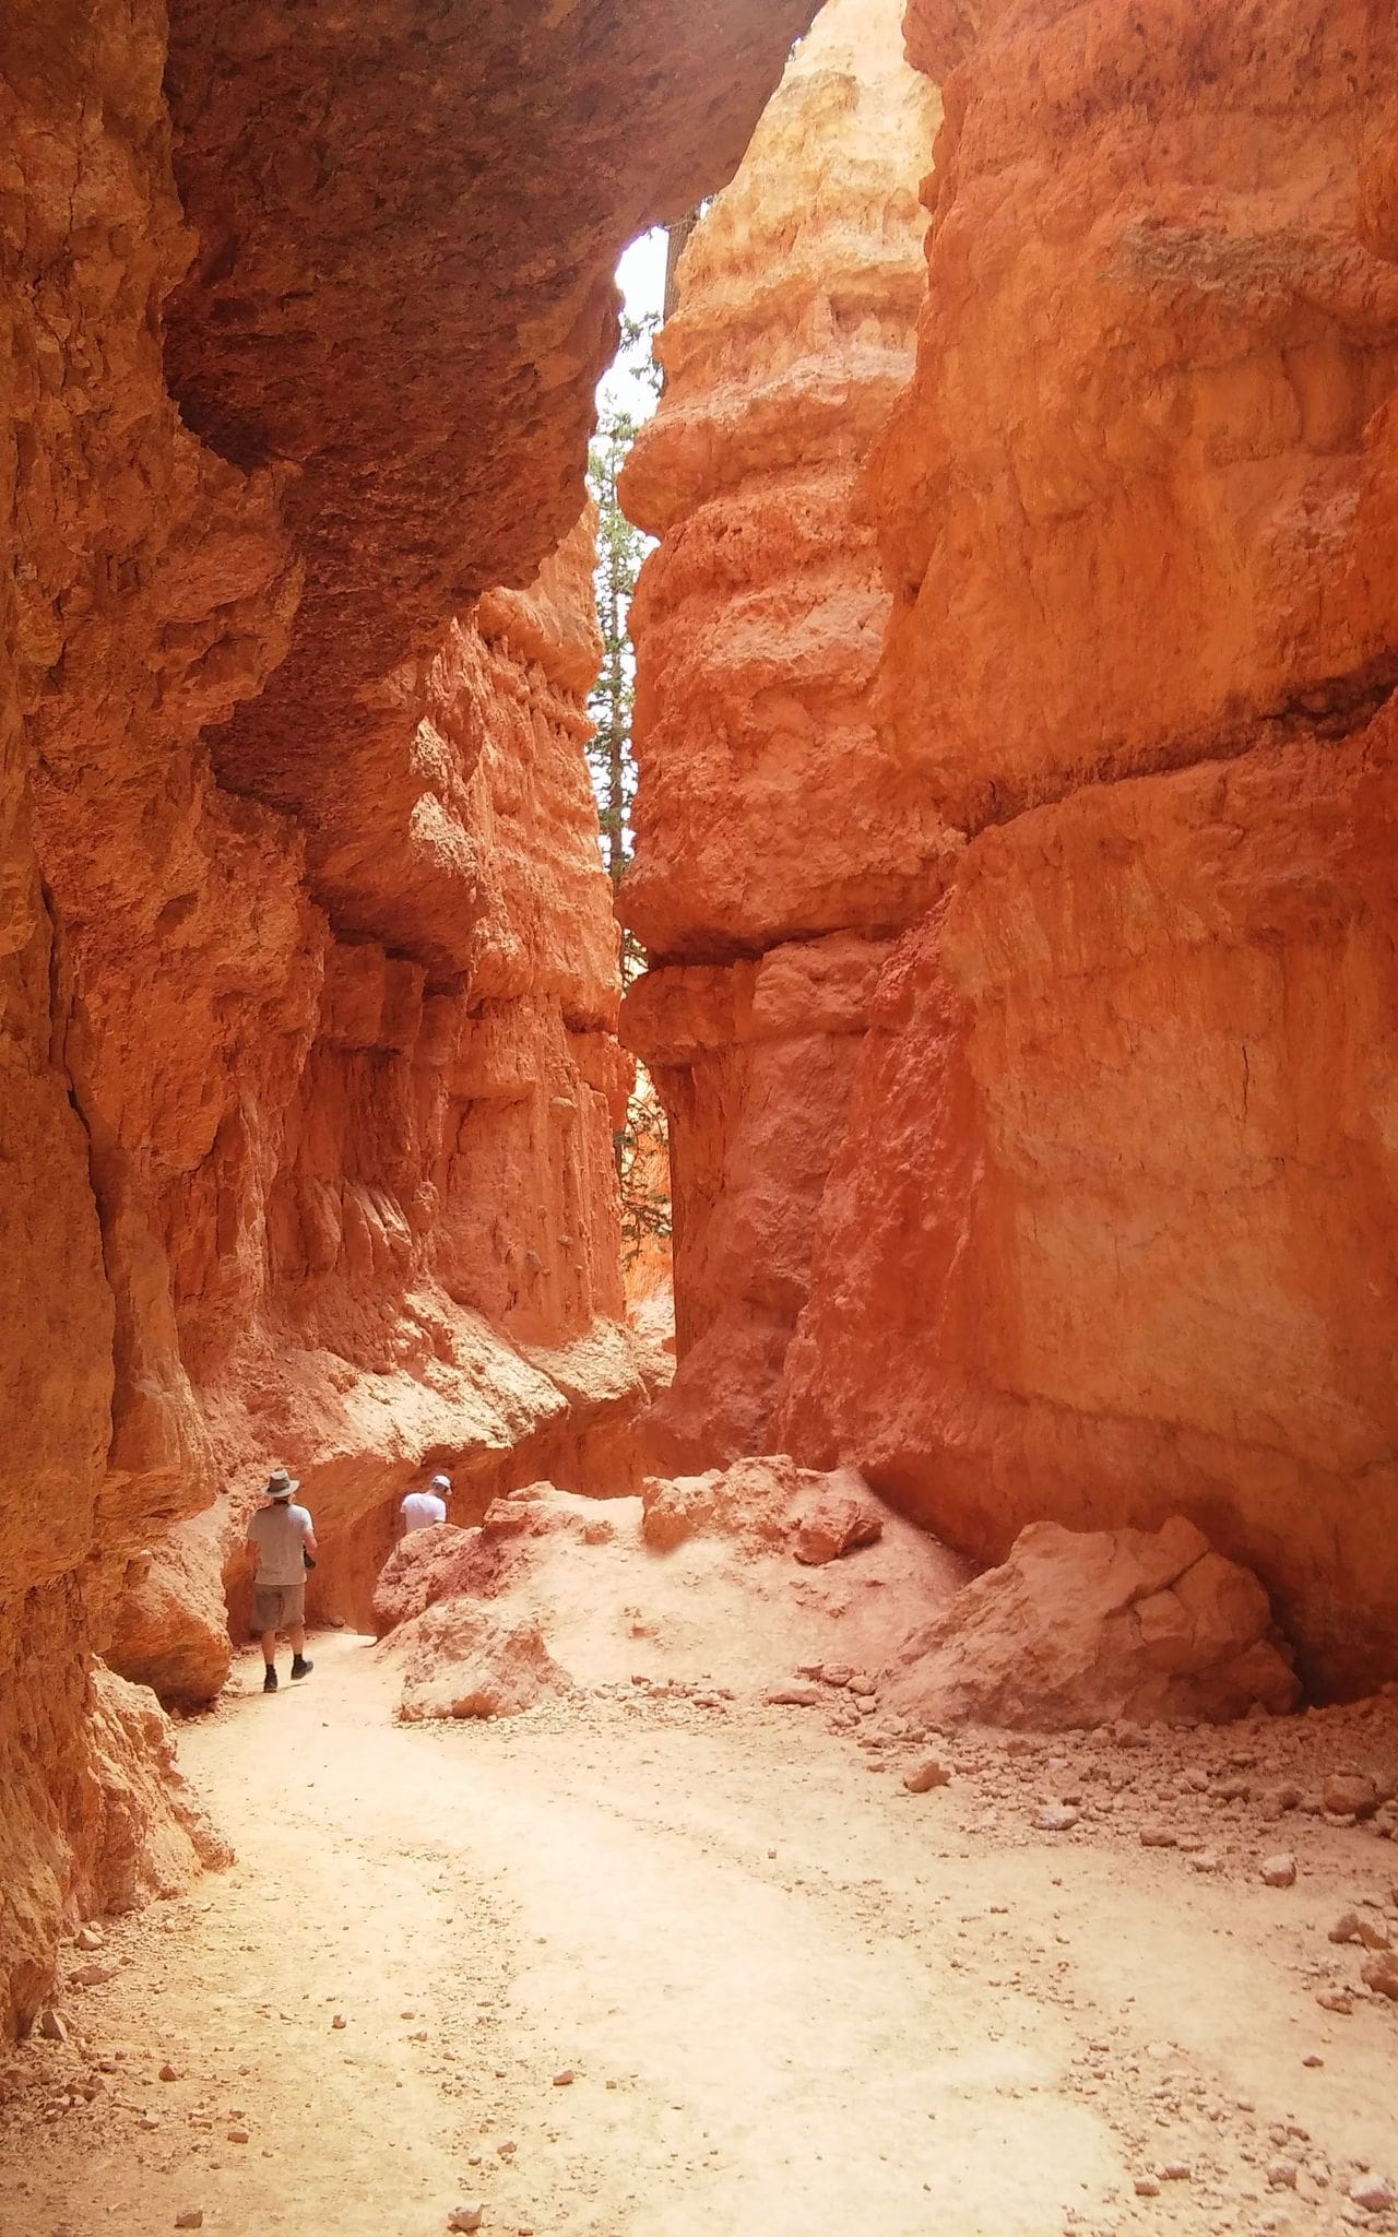
M 1394 1595 L 1382 727 L 975 841 L 879 987 L 785 1394 L 986 1555 L 1186 1503 L 1331 1682 Z

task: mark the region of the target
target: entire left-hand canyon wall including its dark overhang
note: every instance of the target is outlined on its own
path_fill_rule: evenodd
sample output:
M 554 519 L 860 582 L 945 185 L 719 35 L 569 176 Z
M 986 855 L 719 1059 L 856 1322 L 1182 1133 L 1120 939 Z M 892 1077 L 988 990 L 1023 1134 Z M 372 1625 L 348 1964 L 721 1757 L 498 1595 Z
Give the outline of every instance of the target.
M 807 16 L 7 9 L 0 2024 L 179 1848 L 94 1655 L 217 1682 L 268 1461 L 353 1604 L 412 1465 L 640 1391 L 564 539 L 617 251 Z

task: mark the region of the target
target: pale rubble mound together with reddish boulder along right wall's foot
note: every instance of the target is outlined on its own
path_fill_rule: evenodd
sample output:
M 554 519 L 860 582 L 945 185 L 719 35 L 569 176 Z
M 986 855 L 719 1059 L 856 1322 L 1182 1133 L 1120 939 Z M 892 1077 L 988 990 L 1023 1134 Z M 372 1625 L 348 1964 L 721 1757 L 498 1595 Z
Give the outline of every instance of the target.
M 854 1470 L 785 1454 L 649 1476 L 640 1501 L 528 1485 L 479 1528 L 403 1539 L 374 1606 L 412 1718 L 631 1678 L 814 1705 L 812 1671 L 841 1667 L 939 1729 L 1228 1722 L 1300 1698 L 1266 1593 L 1179 1517 L 1040 1523 L 969 1579 Z

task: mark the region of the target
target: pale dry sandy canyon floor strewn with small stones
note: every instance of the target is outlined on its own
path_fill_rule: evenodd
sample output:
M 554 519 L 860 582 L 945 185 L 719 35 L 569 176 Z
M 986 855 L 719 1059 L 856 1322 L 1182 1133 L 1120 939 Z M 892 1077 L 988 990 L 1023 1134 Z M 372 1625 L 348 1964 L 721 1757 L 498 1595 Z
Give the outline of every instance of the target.
M 1398 1846 L 1255 1807 L 1277 1749 L 1387 1749 L 1398 1705 L 966 1736 L 922 1796 L 812 1709 L 391 1709 L 338 1635 L 183 1729 L 239 1861 L 74 1951 L 114 1966 L 74 2040 L 0 2063 L 4 2237 L 436 2237 L 463 2201 L 535 2237 L 1398 2226 L 1349 2199 L 1398 2177 L 1398 2002 L 1315 2002 L 1358 1984 L 1344 1906 L 1396 1926 Z M 1062 1794 L 1080 1823 L 1038 1832 Z

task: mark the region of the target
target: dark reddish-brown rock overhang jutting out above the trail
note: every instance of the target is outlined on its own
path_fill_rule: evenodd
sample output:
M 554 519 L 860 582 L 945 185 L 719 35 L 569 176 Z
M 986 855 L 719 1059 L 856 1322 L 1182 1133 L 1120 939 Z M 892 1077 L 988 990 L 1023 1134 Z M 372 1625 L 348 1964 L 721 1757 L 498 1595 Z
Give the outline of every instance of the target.
M 340 931 L 425 953 L 429 897 L 434 962 L 467 931 L 450 790 L 385 814 L 423 711 L 400 662 L 573 526 L 617 255 L 731 174 L 812 4 L 170 9 L 199 237 L 170 385 L 210 450 L 286 474 L 304 566 L 289 658 L 215 758 L 295 814 Z

